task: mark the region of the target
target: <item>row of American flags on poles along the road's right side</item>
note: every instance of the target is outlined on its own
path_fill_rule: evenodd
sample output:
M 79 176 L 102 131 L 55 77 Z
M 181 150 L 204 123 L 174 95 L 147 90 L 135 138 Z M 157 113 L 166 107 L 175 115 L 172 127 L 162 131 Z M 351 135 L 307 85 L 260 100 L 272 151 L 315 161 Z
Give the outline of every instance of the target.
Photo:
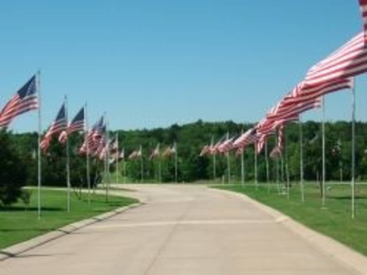
M 303 173 L 303 143 L 301 114 L 305 111 L 322 108 L 322 204 L 325 206 L 326 193 L 326 167 L 325 167 L 325 95 L 350 89 L 352 91 L 352 218 L 355 216 L 355 84 L 354 77 L 367 71 L 367 0 L 359 0 L 364 30 L 350 41 L 333 52 L 327 58 L 316 63 L 306 73 L 305 78 L 299 82 L 287 95 L 272 107 L 260 122 L 239 137 L 222 137 L 218 143 L 204 146 L 201 155 L 213 154 L 215 177 L 215 154 L 236 150 L 236 154 L 243 154 L 244 147 L 253 143 L 255 146 L 255 184 L 257 186 L 257 154 L 261 152 L 264 144 L 266 148 L 266 167 L 268 178 L 268 152 L 266 139 L 276 135 L 276 147 L 270 153 L 272 157 L 279 157 L 283 165 L 283 129 L 292 121 L 299 123 L 300 140 L 300 186 L 301 199 L 304 201 L 304 173 Z M 242 155 L 243 157 L 243 155 Z M 243 160 L 242 160 L 243 161 Z M 288 164 L 286 162 L 287 173 Z M 228 171 L 230 171 L 228 162 Z M 278 170 L 277 170 L 278 171 Z M 283 169 L 281 169 L 283 171 Z M 230 173 L 230 172 L 229 172 Z M 243 173 L 243 172 L 242 172 Z M 278 173 L 278 172 L 277 172 Z M 278 178 L 279 176 L 277 176 Z M 289 188 L 289 182 L 287 184 Z M 289 190 L 288 190 L 289 191 Z M 289 192 L 288 192 L 289 194 Z

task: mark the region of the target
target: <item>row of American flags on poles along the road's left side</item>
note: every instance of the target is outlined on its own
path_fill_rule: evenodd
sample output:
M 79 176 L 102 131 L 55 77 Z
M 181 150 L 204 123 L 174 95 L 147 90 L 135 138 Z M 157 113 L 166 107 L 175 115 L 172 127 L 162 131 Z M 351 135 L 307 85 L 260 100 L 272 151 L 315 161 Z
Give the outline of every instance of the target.
M 119 160 L 124 159 L 124 149 L 119 151 L 119 136 L 116 132 L 116 136 L 110 139 L 108 122 L 106 114 L 103 114 L 101 118 L 92 126 L 88 128 L 88 115 L 87 115 L 87 103 L 81 107 L 75 117 L 68 120 L 68 100 L 65 96 L 64 102 L 59 109 L 55 120 L 48 127 L 46 133 L 42 136 L 41 128 L 41 81 L 40 72 L 37 72 L 30 78 L 26 84 L 23 85 L 10 101 L 3 107 L 0 112 L 0 128 L 7 128 L 11 121 L 31 110 L 38 110 L 38 217 L 41 216 L 41 153 L 46 153 L 50 146 L 51 140 L 54 136 L 58 137 L 58 141 L 65 144 L 66 155 L 66 186 L 67 186 L 67 210 L 70 212 L 70 148 L 69 148 L 69 136 L 75 132 L 84 132 L 84 141 L 79 148 L 79 153 L 86 156 L 86 178 L 88 186 L 88 204 L 91 199 L 91 182 L 90 182 L 90 157 L 104 161 L 105 175 L 108 177 L 108 184 L 106 184 L 106 199 L 108 199 L 110 164 L 116 162 L 116 183 L 119 183 Z M 149 159 L 162 157 L 170 157 L 175 155 L 175 181 L 177 182 L 177 143 L 173 146 L 168 146 L 166 150 L 160 154 L 160 145 L 157 144 L 155 150 L 153 150 Z M 111 157 L 112 155 L 112 157 Z M 141 180 L 143 180 L 143 158 L 142 158 L 142 146 L 139 150 L 133 151 L 128 159 L 141 159 Z M 124 164 L 124 175 L 125 173 Z M 161 181 L 161 163 L 159 162 L 159 181 Z

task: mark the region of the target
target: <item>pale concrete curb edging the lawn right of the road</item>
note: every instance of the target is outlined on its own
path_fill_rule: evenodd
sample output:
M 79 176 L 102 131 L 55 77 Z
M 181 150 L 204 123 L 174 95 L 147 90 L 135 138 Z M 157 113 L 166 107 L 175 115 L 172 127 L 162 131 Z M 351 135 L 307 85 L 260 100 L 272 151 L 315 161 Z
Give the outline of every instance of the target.
M 214 189 L 211 190 L 221 192 L 222 194 L 227 194 L 235 197 L 239 197 L 247 202 L 252 203 L 257 206 L 270 216 L 275 219 L 276 223 L 282 224 L 293 233 L 306 239 L 309 243 L 316 246 L 319 250 L 326 253 L 329 257 L 333 257 L 338 261 L 347 265 L 350 269 L 359 272 L 360 274 L 367 274 L 367 257 L 363 254 L 356 252 L 355 250 L 349 248 L 348 246 L 336 241 L 335 239 L 323 235 L 317 231 L 314 231 L 306 225 L 293 220 L 291 217 L 281 213 L 278 210 L 271 208 L 270 206 L 264 205 L 255 199 L 248 197 L 245 194 L 237 193 L 229 190 Z

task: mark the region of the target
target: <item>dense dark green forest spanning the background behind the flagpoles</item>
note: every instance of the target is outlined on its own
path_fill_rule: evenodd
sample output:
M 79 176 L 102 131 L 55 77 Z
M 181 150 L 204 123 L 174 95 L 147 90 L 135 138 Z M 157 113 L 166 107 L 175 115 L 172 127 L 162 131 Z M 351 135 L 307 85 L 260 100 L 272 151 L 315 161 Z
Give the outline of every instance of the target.
M 216 142 L 225 133 L 230 135 L 246 131 L 253 126 L 252 124 L 236 124 L 232 121 L 227 122 L 203 122 L 201 120 L 185 124 L 174 124 L 168 128 L 143 129 L 123 131 L 119 130 L 120 150 L 124 148 L 127 157 L 131 151 L 142 146 L 143 152 L 143 178 L 147 182 L 158 180 L 158 165 L 161 163 L 162 181 L 174 181 L 175 179 L 175 161 L 174 157 L 160 157 L 150 160 L 149 156 L 152 150 L 160 143 L 161 153 L 167 146 L 172 146 L 177 142 L 178 151 L 178 181 L 193 182 L 197 180 L 208 180 L 213 177 L 213 161 L 211 156 L 200 157 L 201 148 L 210 144 L 214 138 Z M 315 180 L 318 174 L 321 174 L 321 125 L 318 122 L 308 121 L 302 126 L 304 136 L 304 171 L 306 180 Z M 290 179 L 299 179 L 299 125 L 297 123 L 287 125 L 284 131 L 284 151 L 283 161 L 288 163 Z M 116 132 L 110 132 L 110 136 Z M 11 168 L 18 171 L 21 167 L 25 174 L 26 184 L 37 183 L 37 134 L 23 133 L 12 134 L 11 132 L 1 132 L 0 147 L 8 147 L 2 154 L 15 155 L 17 164 L 13 163 Z M 73 186 L 86 185 L 86 159 L 80 156 L 78 148 L 83 140 L 81 134 L 73 134 L 70 137 L 71 154 L 71 180 Z M 269 137 L 269 152 L 275 146 L 275 137 Z M 65 147 L 57 142 L 55 138 L 47 154 L 42 157 L 42 182 L 44 185 L 63 186 L 65 185 Z M 342 174 L 343 180 L 350 180 L 351 167 L 351 123 L 338 121 L 326 123 L 326 177 L 327 180 L 339 180 Z M 258 179 L 266 179 L 266 165 L 264 150 L 258 155 Z M 224 155 L 216 157 L 217 180 L 225 177 L 227 181 L 227 162 Z M 244 153 L 246 180 L 254 179 L 254 148 L 248 146 Z M 141 179 L 141 160 L 128 160 L 125 158 L 126 176 L 131 181 Z M 121 164 L 121 162 L 120 162 Z M 275 180 L 276 160 L 269 159 L 270 179 Z M 122 167 L 122 165 L 120 165 Z M 240 179 L 241 161 L 235 153 L 230 154 L 230 166 L 232 180 Z M 12 177 L 3 166 L 1 169 L 1 181 L 11 181 Z M 92 183 L 97 183 L 103 172 L 103 163 L 100 160 L 91 158 L 91 179 Z M 110 170 L 115 170 L 115 164 L 112 164 Z M 123 173 L 124 169 L 120 168 Z M 19 173 L 19 172 L 17 172 Z M 5 175 L 5 176 L 4 176 Z M 356 175 L 357 180 L 367 178 L 367 124 L 363 122 L 356 123 Z

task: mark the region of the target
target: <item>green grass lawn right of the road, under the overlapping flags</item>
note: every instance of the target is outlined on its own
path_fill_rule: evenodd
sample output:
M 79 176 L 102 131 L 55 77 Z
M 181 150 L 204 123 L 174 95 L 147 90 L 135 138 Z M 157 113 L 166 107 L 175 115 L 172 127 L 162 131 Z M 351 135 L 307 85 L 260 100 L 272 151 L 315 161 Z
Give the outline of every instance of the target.
M 305 202 L 301 202 L 299 185 L 290 188 L 290 198 L 279 194 L 275 185 L 270 192 L 266 184 L 241 187 L 221 185 L 215 188 L 241 192 L 271 206 L 293 219 L 367 255 L 367 185 L 356 185 L 355 219 L 351 218 L 349 184 L 327 184 L 326 209 L 322 209 L 320 190 L 315 183 L 307 183 Z M 281 192 L 282 193 L 282 192 Z

